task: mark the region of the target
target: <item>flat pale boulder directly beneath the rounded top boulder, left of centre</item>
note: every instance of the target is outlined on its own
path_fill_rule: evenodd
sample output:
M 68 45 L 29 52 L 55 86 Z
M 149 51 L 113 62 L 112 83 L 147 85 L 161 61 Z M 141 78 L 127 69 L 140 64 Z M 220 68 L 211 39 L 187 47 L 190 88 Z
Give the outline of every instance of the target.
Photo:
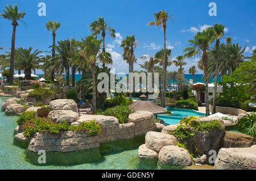
M 56 123 L 73 123 L 79 119 L 79 114 L 71 110 L 53 110 L 48 114 L 48 118 L 51 118 Z

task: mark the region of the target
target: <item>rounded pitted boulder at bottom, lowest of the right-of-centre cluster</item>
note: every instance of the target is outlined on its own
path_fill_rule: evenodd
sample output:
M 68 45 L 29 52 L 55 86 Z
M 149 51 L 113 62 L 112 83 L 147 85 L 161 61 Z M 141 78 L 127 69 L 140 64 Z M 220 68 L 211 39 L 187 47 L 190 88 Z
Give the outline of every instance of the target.
M 163 146 L 158 154 L 158 160 L 165 165 L 189 166 L 192 165 L 192 158 L 188 151 L 179 146 Z

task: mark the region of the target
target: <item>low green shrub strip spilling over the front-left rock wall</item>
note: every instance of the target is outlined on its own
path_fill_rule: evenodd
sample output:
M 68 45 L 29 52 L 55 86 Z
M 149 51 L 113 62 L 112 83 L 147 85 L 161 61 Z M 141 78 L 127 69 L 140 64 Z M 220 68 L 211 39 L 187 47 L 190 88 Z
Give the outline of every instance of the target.
M 23 125 L 24 136 L 29 138 L 36 132 L 39 133 L 52 133 L 58 134 L 66 131 L 85 132 L 90 136 L 94 136 L 101 133 L 100 125 L 96 124 L 94 120 L 83 122 L 80 125 L 69 125 L 67 122 L 55 123 L 51 119 L 47 118 L 36 118 L 27 121 Z

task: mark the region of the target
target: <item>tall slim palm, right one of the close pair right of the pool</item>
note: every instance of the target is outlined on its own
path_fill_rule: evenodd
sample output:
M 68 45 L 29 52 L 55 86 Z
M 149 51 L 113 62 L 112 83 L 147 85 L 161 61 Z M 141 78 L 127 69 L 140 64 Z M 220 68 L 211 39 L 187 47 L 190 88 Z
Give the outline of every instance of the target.
M 213 95 L 213 110 L 212 113 L 216 113 L 216 98 L 217 98 L 217 83 L 218 83 L 218 50 L 220 47 L 220 40 L 222 36 L 224 36 L 224 26 L 221 24 L 214 24 L 213 29 L 215 31 L 214 38 L 216 40 L 215 43 L 215 78 L 214 78 L 214 95 Z

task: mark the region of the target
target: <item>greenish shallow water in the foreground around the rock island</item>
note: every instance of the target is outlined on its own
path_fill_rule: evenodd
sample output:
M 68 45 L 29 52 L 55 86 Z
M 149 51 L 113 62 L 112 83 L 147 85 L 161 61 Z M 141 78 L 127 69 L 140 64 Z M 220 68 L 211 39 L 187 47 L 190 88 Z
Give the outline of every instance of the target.
M 0 97 L 0 105 L 7 98 Z M 25 160 L 26 149 L 13 145 L 13 132 L 17 116 L 6 116 L 0 111 L 0 169 L 182 169 L 162 166 L 159 163 L 142 162 L 137 157 L 138 146 L 125 151 L 102 154 L 102 159 L 93 163 L 72 166 L 35 166 Z M 139 142 L 138 145 L 143 144 Z M 110 148 L 113 148 L 111 146 Z

